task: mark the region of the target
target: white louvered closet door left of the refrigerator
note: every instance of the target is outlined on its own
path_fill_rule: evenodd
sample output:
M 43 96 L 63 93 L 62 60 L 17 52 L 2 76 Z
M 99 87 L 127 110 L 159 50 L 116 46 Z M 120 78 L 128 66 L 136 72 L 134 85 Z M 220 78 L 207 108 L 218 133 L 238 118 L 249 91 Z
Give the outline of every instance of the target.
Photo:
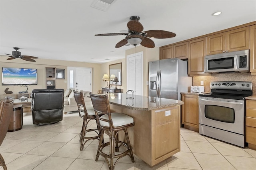
M 143 51 L 127 55 L 127 90 L 134 95 L 143 95 Z

